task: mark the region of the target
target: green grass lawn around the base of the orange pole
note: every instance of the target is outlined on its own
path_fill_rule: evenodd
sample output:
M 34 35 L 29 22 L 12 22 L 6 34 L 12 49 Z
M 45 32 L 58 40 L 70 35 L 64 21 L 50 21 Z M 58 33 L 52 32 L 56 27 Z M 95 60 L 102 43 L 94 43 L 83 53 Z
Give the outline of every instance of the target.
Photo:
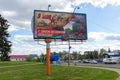
M 43 64 L 0 62 L 0 80 L 116 80 L 118 76 L 113 71 L 72 66 L 51 66 L 51 75 L 47 76 Z

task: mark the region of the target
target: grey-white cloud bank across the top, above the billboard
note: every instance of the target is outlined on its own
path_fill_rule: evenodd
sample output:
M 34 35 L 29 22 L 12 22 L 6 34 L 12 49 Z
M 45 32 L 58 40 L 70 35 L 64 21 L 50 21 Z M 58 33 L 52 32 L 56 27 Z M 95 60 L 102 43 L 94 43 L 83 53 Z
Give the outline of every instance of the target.
M 32 4 L 31 4 L 32 3 Z M 84 7 L 91 4 L 95 7 L 104 8 L 107 5 L 120 5 L 119 0 L 0 0 L 0 13 L 8 19 L 10 24 L 21 29 L 31 29 L 31 20 L 33 10 L 47 10 L 48 4 L 51 4 L 50 10 L 72 12 L 74 6 Z M 84 4 L 84 5 L 83 5 Z M 26 23 L 27 22 L 27 23 Z M 16 30 L 16 29 L 15 29 Z M 13 30 L 11 30 L 13 31 Z

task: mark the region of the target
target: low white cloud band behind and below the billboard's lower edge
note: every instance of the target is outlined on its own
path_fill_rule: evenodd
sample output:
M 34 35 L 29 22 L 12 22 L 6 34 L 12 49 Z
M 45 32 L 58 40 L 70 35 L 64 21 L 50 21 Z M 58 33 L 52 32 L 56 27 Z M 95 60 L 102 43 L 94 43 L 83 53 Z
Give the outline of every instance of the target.
M 111 50 L 119 49 L 120 40 L 114 37 L 113 40 L 110 38 L 110 36 L 118 37 L 120 36 L 120 34 L 112 34 L 105 32 L 89 32 L 88 40 L 86 42 L 71 42 L 71 52 L 79 52 L 86 50 L 92 51 L 99 50 L 101 48 L 104 48 L 106 50 L 108 50 L 108 48 L 110 48 Z M 34 41 L 32 35 L 15 35 L 13 42 L 14 43 L 12 47 L 12 54 L 45 54 L 46 52 L 45 42 L 41 41 L 39 44 L 37 44 L 37 42 Z M 51 52 L 60 52 L 68 50 L 68 42 L 55 43 L 54 41 L 52 41 L 51 43 Z

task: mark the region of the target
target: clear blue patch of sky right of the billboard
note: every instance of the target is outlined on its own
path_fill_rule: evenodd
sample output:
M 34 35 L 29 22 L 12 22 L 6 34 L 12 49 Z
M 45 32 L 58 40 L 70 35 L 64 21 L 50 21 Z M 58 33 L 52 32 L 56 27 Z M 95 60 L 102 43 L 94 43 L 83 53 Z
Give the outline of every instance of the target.
M 86 9 L 82 8 L 79 12 L 87 14 L 88 32 L 120 33 L 118 30 L 118 24 L 120 24 L 120 6 L 108 5 L 101 8 L 88 4 Z

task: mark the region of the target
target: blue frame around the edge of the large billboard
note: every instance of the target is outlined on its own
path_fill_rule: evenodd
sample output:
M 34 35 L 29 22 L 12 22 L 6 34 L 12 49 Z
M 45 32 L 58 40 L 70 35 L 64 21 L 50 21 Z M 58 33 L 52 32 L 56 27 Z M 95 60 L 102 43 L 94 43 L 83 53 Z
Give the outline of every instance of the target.
M 36 35 L 35 35 L 35 13 L 36 12 L 46 12 L 46 13 L 60 13 L 60 14 L 72 14 L 72 15 L 80 15 L 80 16 L 84 16 L 85 17 L 85 38 L 71 38 L 71 37 L 68 37 L 67 39 L 65 39 L 65 40 L 87 40 L 88 39 L 88 37 L 87 37 L 87 16 L 86 16 L 86 14 L 84 14 L 84 13 L 70 13 L 70 12 L 58 12 L 58 11 L 47 11 L 47 10 L 34 10 L 34 16 L 33 16 L 33 21 L 32 21 L 32 23 L 33 23 L 33 25 L 32 25 L 32 27 L 33 27 L 33 38 L 34 39 L 46 39 L 46 38 L 50 38 L 50 39 L 60 39 L 60 40 L 64 40 L 64 38 L 63 37 L 52 37 L 52 36 L 38 36 L 37 35 L 37 37 L 35 37 Z M 42 29 L 41 29 L 42 30 Z M 64 34 L 63 34 L 64 35 Z M 68 34 L 69 35 L 69 34 Z

